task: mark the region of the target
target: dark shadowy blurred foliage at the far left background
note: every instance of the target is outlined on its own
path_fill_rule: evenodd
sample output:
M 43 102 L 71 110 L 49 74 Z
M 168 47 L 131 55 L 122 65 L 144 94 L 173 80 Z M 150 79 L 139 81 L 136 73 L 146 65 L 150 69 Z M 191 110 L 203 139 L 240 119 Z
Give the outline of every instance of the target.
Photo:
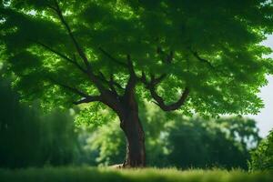
M 68 113 L 24 106 L 0 78 L 0 167 L 60 166 L 73 162 L 76 133 Z

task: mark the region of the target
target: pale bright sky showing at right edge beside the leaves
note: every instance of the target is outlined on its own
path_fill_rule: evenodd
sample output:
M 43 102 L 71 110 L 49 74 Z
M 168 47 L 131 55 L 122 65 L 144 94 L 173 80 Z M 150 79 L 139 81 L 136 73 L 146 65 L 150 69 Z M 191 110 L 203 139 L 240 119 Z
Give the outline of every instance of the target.
M 269 35 L 263 45 L 268 45 L 273 49 L 273 35 Z M 271 56 L 273 57 L 273 54 Z M 265 107 L 257 116 L 249 115 L 248 117 L 258 122 L 260 136 L 264 137 L 268 135 L 270 129 L 273 129 L 273 76 L 268 76 L 268 86 L 261 88 L 259 96 L 263 99 Z

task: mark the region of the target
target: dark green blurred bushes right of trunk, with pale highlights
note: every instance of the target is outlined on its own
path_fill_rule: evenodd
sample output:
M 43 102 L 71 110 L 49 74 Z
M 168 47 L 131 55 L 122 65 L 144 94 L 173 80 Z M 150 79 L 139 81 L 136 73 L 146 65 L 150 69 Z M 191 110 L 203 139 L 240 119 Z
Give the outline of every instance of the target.
M 248 168 L 248 147 L 255 147 L 259 141 L 255 121 L 233 117 L 175 122 L 167 139 L 170 164 L 183 168 Z

